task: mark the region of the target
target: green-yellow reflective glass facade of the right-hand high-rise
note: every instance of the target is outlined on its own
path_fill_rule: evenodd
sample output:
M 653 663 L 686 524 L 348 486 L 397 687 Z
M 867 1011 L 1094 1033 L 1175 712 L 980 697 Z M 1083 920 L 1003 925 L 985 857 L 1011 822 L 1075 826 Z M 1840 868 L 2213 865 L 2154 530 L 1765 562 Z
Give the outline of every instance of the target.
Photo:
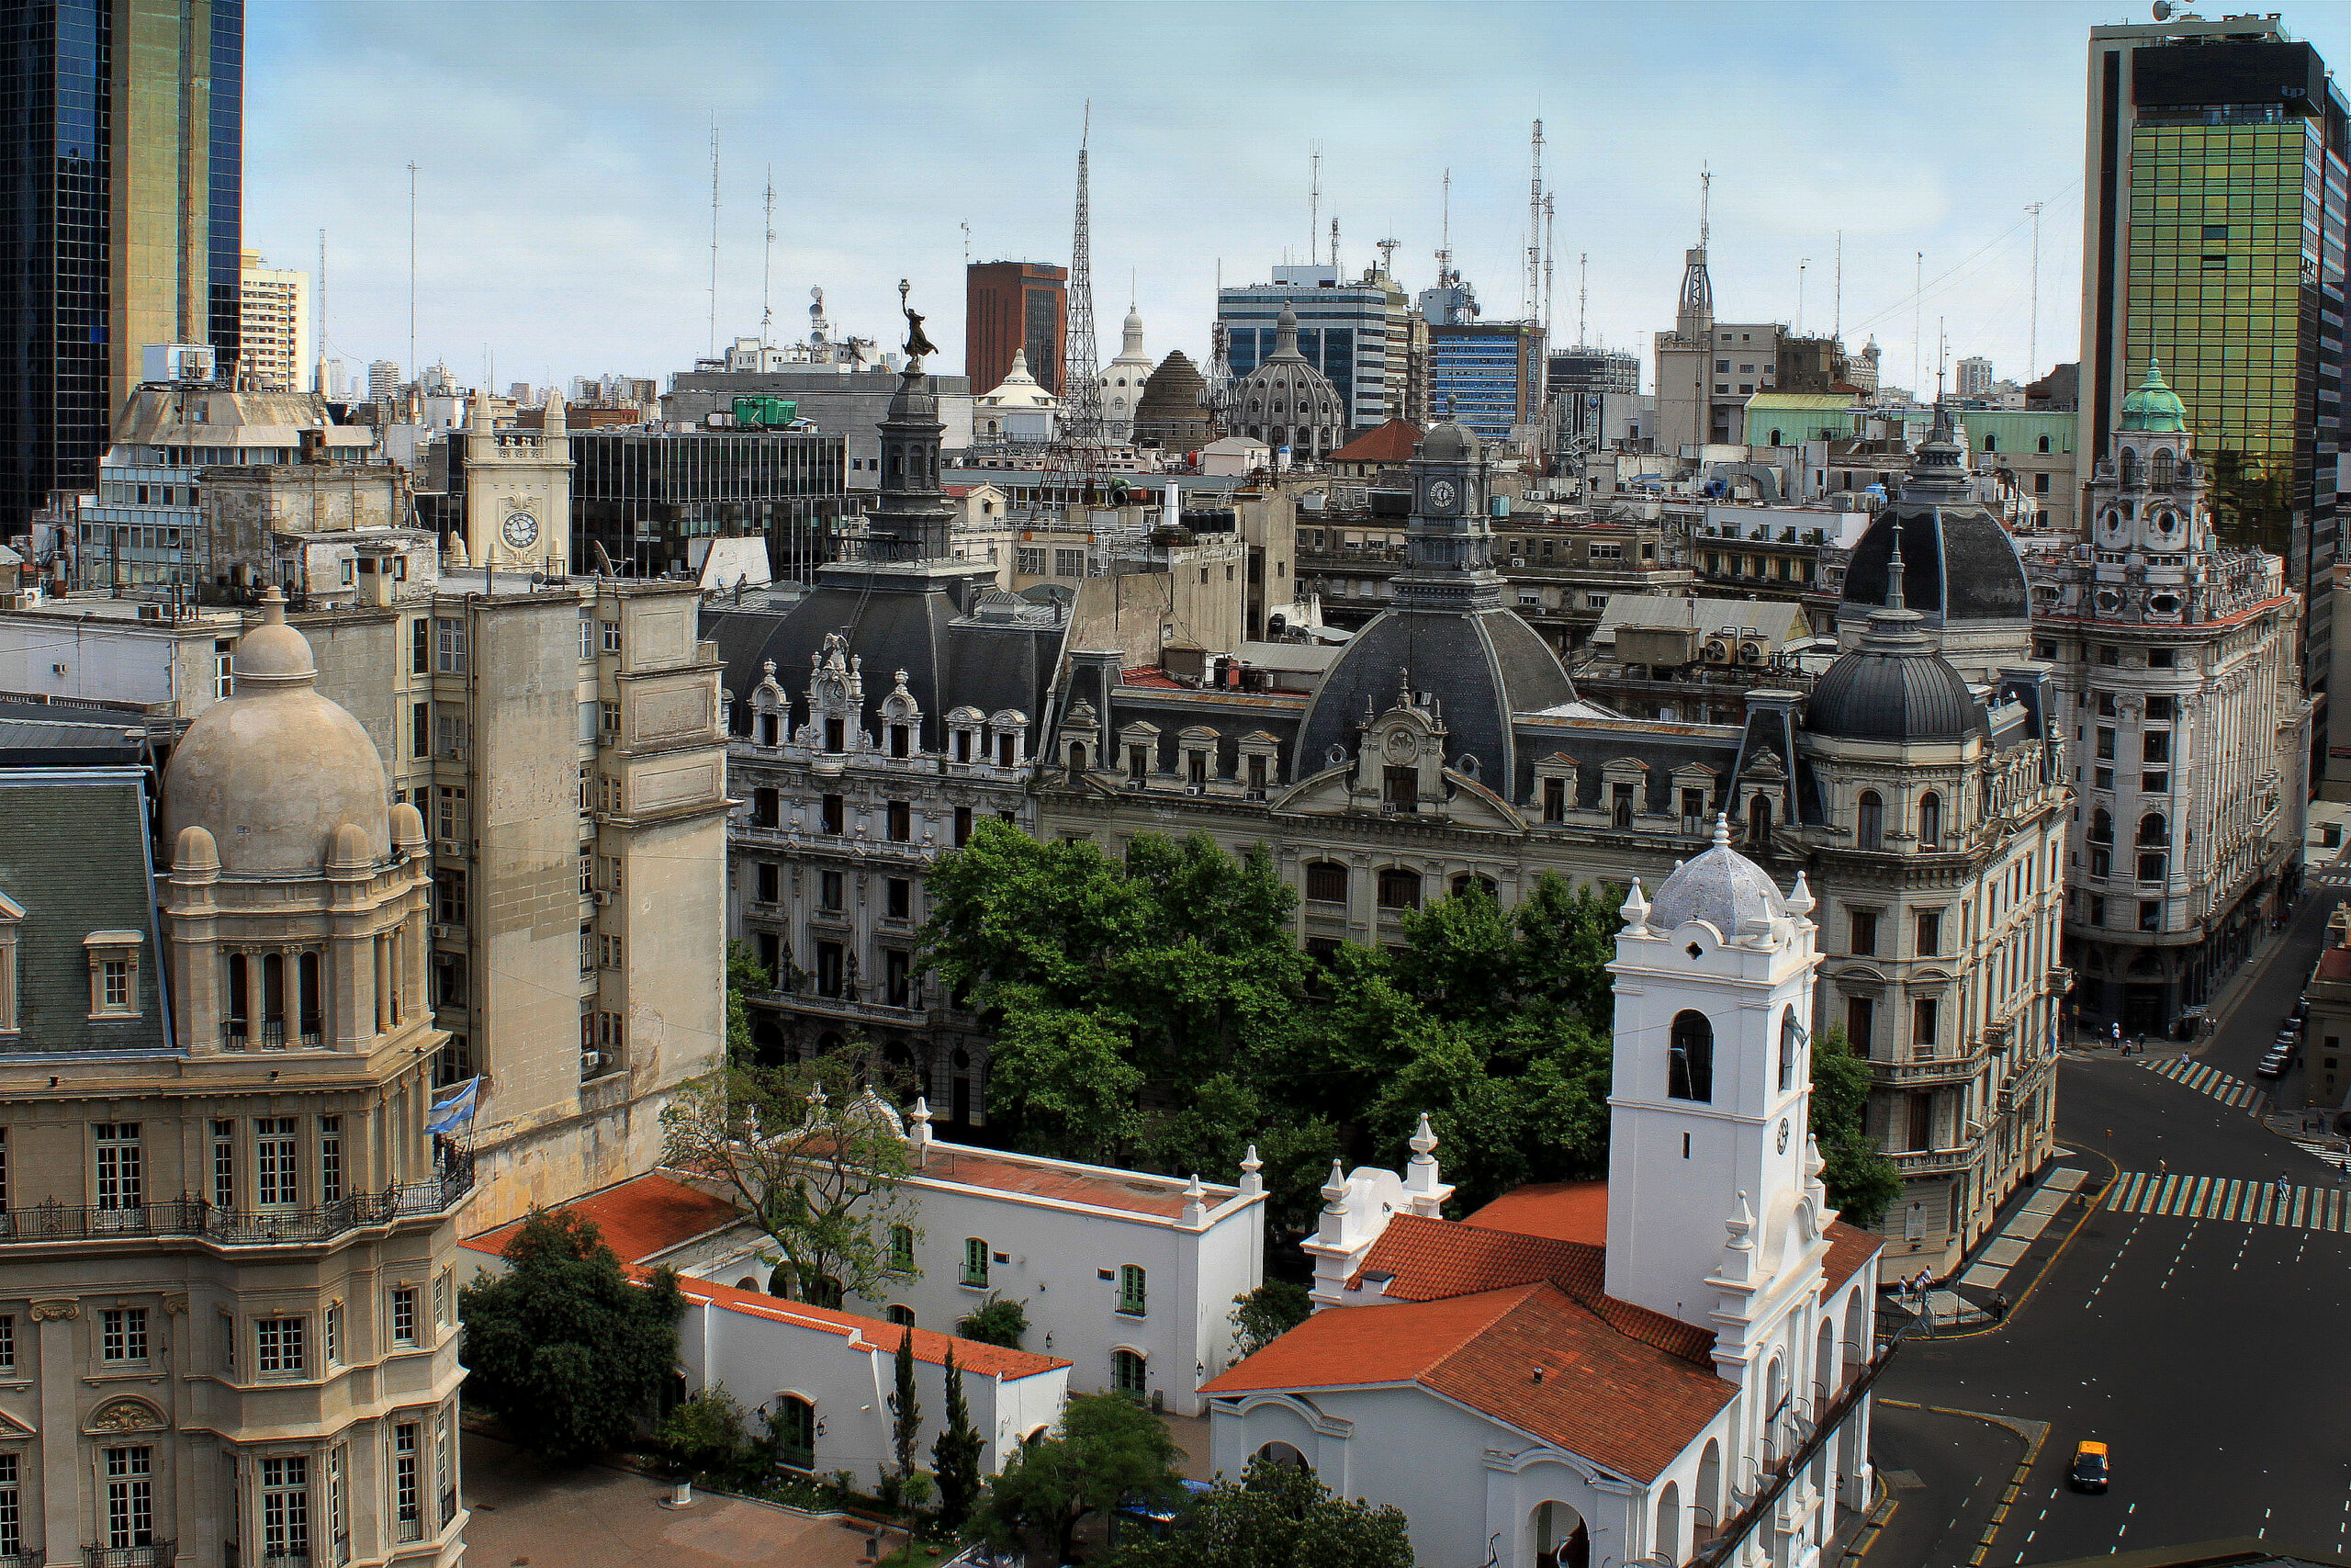
M 2149 355 L 2163 360 L 2212 473 L 2222 538 L 2302 564 L 2318 489 L 2318 280 L 2327 216 L 2342 226 L 2325 122 L 2196 120 L 2142 115 L 2130 129 L 2130 381 Z M 2337 233 L 2337 277 L 2339 244 Z M 2327 477 L 2332 503 L 2332 461 Z

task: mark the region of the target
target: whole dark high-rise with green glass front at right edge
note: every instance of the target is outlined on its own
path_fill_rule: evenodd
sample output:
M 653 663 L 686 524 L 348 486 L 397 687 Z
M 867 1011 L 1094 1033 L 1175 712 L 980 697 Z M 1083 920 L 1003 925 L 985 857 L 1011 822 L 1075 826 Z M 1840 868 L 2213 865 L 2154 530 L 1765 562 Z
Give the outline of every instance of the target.
M 2344 320 L 2344 99 L 2276 19 L 2090 31 L 2078 482 L 2161 362 L 2224 545 L 2302 590 L 2313 752 L 2344 745 L 2335 649 Z M 2316 771 L 2316 769 L 2313 769 Z M 2330 762 L 2351 790 L 2351 757 Z

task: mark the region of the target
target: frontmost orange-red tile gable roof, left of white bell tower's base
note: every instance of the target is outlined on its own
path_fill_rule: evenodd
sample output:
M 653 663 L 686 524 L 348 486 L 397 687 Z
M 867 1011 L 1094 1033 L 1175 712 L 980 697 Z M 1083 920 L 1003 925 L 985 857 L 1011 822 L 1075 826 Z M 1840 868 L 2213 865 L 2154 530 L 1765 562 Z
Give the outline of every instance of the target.
M 1737 1392 L 1712 1366 L 1613 1333 L 1549 1284 L 1317 1312 L 1201 1392 L 1394 1382 L 1636 1481 L 1655 1481 Z

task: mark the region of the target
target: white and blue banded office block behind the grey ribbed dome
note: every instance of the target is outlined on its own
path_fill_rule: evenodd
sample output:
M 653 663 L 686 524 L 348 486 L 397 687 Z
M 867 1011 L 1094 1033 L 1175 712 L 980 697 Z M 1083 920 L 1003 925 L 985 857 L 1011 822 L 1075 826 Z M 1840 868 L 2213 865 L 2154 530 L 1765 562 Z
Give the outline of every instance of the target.
M 1331 263 L 1277 266 L 1272 282 L 1218 289 L 1215 320 L 1230 336 L 1232 374 L 1272 357 L 1281 313 L 1298 313 L 1298 353 L 1338 388 L 1349 430 L 1385 425 L 1394 407 L 1392 355 L 1404 355 L 1401 289 L 1378 270 L 1347 282 Z

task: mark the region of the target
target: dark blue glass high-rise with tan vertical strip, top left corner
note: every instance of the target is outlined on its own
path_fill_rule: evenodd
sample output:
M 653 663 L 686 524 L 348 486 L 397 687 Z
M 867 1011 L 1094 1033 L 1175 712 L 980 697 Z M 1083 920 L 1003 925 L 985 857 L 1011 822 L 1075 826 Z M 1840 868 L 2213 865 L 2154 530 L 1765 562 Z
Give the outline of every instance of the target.
M 0 5 L 0 531 L 94 480 L 148 343 L 237 353 L 242 0 Z

